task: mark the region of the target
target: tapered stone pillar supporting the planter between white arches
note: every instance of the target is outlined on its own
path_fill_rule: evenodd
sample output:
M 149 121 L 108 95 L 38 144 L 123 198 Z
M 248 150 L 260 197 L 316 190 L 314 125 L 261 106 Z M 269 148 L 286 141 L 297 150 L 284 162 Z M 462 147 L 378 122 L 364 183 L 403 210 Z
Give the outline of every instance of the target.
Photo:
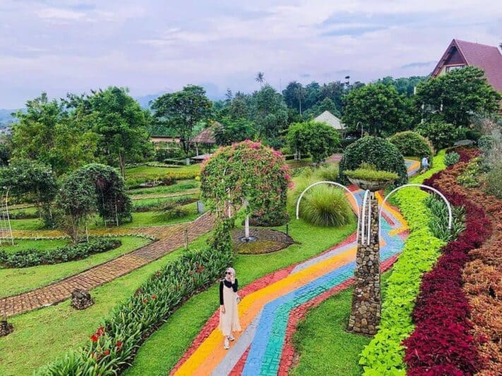
M 368 224 L 366 218 L 361 220 Z M 360 230 L 359 230 L 360 231 Z M 378 243 L 378 203 L 371 193 L 371 229 L 369 245 L 361 244 L 361 232 L 357 244 L 356 269 L 354 277 L 354 293 L 352 295 L 352 310 L 347 331 L 372 335 L 376 334 L 376 326 L 380 323 L 381 291 L 380 291 L 380 245 Z M 367 238 L 367 234 L 366 234 Z

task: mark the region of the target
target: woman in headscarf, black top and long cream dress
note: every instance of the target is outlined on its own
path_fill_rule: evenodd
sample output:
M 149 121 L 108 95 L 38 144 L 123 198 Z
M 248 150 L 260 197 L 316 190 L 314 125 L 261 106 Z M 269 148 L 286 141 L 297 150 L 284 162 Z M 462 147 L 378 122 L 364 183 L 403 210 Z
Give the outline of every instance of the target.
M 225 336 L 225 349 L 230 347 L 229 341 L 234 341 L 232 332 L 240 332 L 239 310 L 237 309 L 238 282 L 232 267 L 225 271 L 225 279 L 220 281 L 220 330 Z

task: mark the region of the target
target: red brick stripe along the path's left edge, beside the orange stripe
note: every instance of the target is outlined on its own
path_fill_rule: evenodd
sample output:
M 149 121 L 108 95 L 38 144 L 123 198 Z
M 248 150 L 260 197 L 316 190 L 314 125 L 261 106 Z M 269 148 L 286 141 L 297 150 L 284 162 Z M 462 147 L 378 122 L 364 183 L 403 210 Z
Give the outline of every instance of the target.
M 318 257 L 320 255 L 330 252 L 331 250 L 342 247 L 354 241 L 356 241 L 356 233 L 351 234 L 350 236 L 345 238 L 345 240 L 342 241 L 341 243 L 338 243 L 337 245 L 334 245 L 328 250 L 325 250 L 323 253 L 320 253 L 311 258 Z M 268 286 L 269 284 L 273 284 L 277 281 L 280 281 L 281 279 L 287 277 L 292 272 L 292 270 L 295 267 L 297 267 L 297 265 L 303 262 L 305 262 L 305 260 L 297 262 L 294 265 L 289 265 L 289 267 L 285 267 L 284 269 L 277 270 L 276 272 L 272 272 L 261 278 L 256 279 L 256 281 L 251 282 L 251 284 L 248 284 L 243 289 L 239 290 L 239 296 L 241 296 L 241 298 L 244 298 L 244 296 L 253 293 L 254 291 L 258 291 L 259 289 L 263 289 L 263 287 Z M 190 358 L 190 356 L 196 351 L 198 346 L 201 346 L 203 341 L 205 341 L 205 339 L 208 338 L 211 332 L 213 332 L 213 330 L 215 330 L 218 327 L 219 322 L 220 322 L 220 311 L 216 310 L 216 312 L 213 313 L 213 315 L 209 318 L 208 322 L 205 323 L 204 327 L 201 329 L 201 332 L 199 332 L 199 334 L 193 340 L 192 344 L 190 345 L 186 353 L 183 354 L 183 356 L 179 359 L 178 363 L 176 363 L 171 372 L 169 372 L 169 375 L 174 375 L 174 372 L 176 372 L 178 368 L 180 368 L 181 365 L 185 363 L 185 361 L 188 358 Z

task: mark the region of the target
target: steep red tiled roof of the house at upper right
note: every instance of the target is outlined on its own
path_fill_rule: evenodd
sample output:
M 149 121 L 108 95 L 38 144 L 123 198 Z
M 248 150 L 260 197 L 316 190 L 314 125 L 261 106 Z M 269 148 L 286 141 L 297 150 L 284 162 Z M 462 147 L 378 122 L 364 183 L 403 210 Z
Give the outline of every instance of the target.
M 487 46 L 486 44 L 466 42 L 465 40 L 452 40 L 438 65 L 434 68 L 433 76 L 438 74 L 439 69 L 448 58 L 451 47 L 457 47 L 467 65 L 481 68 L 490 85 L 495 90 L 498 90 L 498 92 L 502 92 L 502 54 L 498 47 Z

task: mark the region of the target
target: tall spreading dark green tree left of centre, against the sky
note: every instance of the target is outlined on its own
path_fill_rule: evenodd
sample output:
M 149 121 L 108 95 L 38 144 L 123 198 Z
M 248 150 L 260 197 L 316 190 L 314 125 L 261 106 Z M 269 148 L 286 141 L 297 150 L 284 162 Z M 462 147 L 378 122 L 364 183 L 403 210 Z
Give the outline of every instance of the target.
M 193 129 L 199 121 L 208 119 L 211 106 L 203 87 L 187 85 L 155 99 L 152 109 L 158 121 L 177 131 L 185 154 L 189 154 Z

